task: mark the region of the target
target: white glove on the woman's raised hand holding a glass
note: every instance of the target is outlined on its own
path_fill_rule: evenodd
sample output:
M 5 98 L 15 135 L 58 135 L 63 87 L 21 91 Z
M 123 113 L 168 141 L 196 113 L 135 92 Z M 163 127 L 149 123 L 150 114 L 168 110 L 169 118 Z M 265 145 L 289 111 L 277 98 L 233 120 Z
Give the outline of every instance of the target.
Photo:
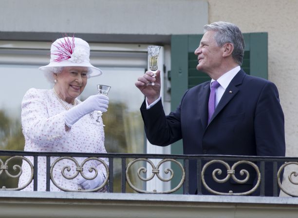
M 94 95 L 84 100 L 65 113 L 65 124 L 72 127 L 77 120 L 93 111 L 106 112 L 109 106 L 109 97 L 105 95 Z

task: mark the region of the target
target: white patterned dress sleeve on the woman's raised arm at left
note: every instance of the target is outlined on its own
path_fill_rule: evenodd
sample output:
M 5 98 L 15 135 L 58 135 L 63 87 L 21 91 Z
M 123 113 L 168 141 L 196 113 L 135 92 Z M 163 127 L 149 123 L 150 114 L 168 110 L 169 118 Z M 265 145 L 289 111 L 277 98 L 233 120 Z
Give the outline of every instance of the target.
M 50 117 L 47 100 L 49 97 L 44 90 L 34 88 L 29 89 L 22 100 L 23 134 L 39 145 L 65 138 L 68 134 L 65 131 L 65 111 Z

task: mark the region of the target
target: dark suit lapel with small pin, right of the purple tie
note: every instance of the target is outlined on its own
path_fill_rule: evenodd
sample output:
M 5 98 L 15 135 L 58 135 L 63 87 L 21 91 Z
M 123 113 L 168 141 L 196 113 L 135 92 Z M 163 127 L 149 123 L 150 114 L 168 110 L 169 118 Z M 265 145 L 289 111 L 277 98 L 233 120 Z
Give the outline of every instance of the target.
M 228 85 L 228 87 L 226 87 L 224 93 L 223 93 L 223 97 L 221 98 L 221 100 L 219 101 L 213 116 L 210 119 L 210 122 L 212 122 L 212 120 L 221 112 L 221 110 L 224 108 L 224 106 L 231 100 L 234 98 L 234 96 L 238 93 L 239 89 L 236 87 L 240 84 L 242 84 L 242 80 L 245 76 L 245 72 L 243 70 L 240 70 L 236 76 L 231 80 L 230 84 Z M 207 109 L 208 110 L 208 109 Z

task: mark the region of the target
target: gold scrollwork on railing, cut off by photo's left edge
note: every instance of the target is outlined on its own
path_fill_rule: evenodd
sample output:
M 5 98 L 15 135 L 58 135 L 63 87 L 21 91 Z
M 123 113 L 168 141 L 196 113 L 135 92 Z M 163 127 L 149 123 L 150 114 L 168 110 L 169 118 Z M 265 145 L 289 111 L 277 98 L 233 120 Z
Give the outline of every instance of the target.
M 26 188 L 30 182 L 33 180 L 33 164 L 30 162 L 29 159 L 25 158 L 25 157 L 22 157 L 22 156 L 14 156 L 14 157 L 11 157 L 9 159 L 7 159 L 5 161 L 5 163 L 3 163 L 3 161 L 0 159 L 0 175 L 5 172 L 5 174 L 9 177 L 9 178 L 18 178 L 21 174 L 22 174 L 22 168 L 20 165 L 13 165 L 13 170 L 14 171 L 17 171 L 19 170 L 19 173 L 17 175 L 12 175 L 9 173 L 9 169 L 8 169 L 8 163 L 12 160 L 15 160 L 15 159 L 21 159 L 21 160 L 24 160 L 26 161 L 29 166 L 30 166 L 30 169 L 31 169 L 31 176 L 29 178 L 29 180 L 21 187 L 18 187 L 18 188 L 6 188 L 5 186 L 2 186 L 2 188 L 0 188 L 0 190 L 22 190 L 24 188 Z

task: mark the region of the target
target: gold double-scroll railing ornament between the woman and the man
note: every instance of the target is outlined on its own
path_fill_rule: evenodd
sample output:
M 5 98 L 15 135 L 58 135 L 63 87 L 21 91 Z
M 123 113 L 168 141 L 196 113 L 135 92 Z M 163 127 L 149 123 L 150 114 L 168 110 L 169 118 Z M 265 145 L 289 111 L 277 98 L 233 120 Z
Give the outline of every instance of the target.
M 172 169 L 170 169 L 170 168 L 166 168 L 165 171 L 164 171 L 165 174 L 170 173 L 170 177 L 169 177 L 169 178 L 162 178 L 162 177 L 159 175 L 159 173 L 160 173 L 159 167 L 160 167 L 163 163 L 168 162 L 168 161 L 170 161 L 170 162 L 174 162 L 174 163 L 176 163 L 176 164 L 180 167 L 180 169 L 181 169 L 181 171 L 182 171 L 182 178 L 181 178 L 179 184 L 178 184 L 175 188 L 173 188 L 173 189 L 171 189 L 171 190 L 168 190 L 168 191 L 158 192 L 158 191 L 156 191 L 156 190 L 153 190 L 152 192 L 150 192 L 150 191 L 146 191 L 146 190 L 139 189 L 139 188 L 135 187 L 135 186 L 131 183 L 131 181 L 130 181 L 130 176 L 129 176 L 129 170 L 130 170 L 130 167 L 131 167 L 135 162 L 138 162 L 138 161 L 145 161 L 145 162 L 149 163 L 149 164 L 151 165 L 151 167 L 152 167 L 152 175 L 151 175 L 149 178 L 144 178 L 143 176 L 141 176 L 141 172 L 142 172 L 142 173 L 147 173 L 147 169 L 146 169 L 145 167 L 140 167 L 140 168 L 138 169 L 138 171 L 137 171 L 138 178 L 140 178 L 140 179 L 143 180 L 143 181 L 149 181 L 149 180 L 151 180 L 152 178 L 154 178 L 155 175 L 156 175 L 156 177 L 159 178 L 161 181 L 164 181 L 164 182 L 168 182 L 168 181 L 170 181 L 170 180 L 174 177 L 174 171 L 173 171 Z M 172 193 L 172 192 L 177 191 L 177 190 L 182 186 L 182 184 L 183 184 L 183 182 L 184 182 L 184 180 L 185 180 L 185 171 L 184 171 L 184 168 L 183 168 L 182 164 L 181 164 L 180 162 L 178 162 L 177 160 L 175 160 L 175 159 L 163 159 L 163 160 L 161 160 L 161 161 L 157 164 L 157 166 L 155 167 L 154 163 L 153 163 L 151 160 L 149 160 L 149 159 L 144 159 L 144 158 L 140 158 L 140 159 L 134 159 L 134 160 L 130 161 L 130 163 L 127 165 L 127 169 L 126 169 L 126 179 L 127 179 L 127 183 L 129 184 L 130 188 L 132 188 L 132 189 L 133 189 L 134 191 L 136 191 L 136 192 L 139 192 L 139 193 L 158 193 L 158 194 L 167 194 L 167 193 Z

